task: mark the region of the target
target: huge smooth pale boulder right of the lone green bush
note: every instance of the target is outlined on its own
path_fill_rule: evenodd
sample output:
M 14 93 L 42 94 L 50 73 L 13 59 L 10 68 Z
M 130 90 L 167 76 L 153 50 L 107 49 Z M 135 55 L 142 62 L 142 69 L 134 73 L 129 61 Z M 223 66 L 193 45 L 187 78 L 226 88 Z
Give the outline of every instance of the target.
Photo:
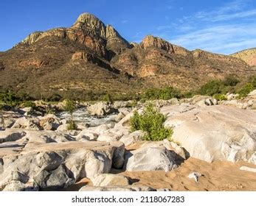
M 166 108 L 163 110 L 167 113 Z M 210 163 L 248 161 L 255 153 L 256 112 L 253 110 L 224 105 L 198 107 L 173 113 L 165 121 L 165 127 L 173 127 L 173 140 L 181 143 L 191 157 Z

